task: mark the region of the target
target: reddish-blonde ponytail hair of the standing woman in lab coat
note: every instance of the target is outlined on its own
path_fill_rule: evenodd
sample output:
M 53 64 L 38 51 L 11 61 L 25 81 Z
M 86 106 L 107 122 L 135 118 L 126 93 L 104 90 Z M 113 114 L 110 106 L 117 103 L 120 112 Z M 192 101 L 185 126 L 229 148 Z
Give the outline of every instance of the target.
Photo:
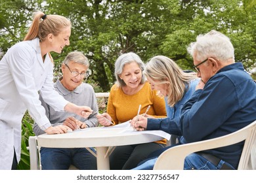
M 65 27 L 71 27 L 71 22 L 64 16 L 56 14 L 44 14 L 41 11 L 36 11 L 33 13 L 33 22 L 24 38 L 24 41 L 30 41 L 39 38 L 40 41 L 52 33 L 53 35 L 58 35 L 62 29 Z

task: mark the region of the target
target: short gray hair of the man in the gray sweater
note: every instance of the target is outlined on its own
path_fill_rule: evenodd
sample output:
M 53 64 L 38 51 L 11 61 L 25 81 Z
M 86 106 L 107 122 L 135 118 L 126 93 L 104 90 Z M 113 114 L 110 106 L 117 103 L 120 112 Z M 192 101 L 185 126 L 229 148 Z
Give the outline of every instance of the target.
M 74 63 L 80 63 L 87 67 L 90 65 L 88 58 L 84 56 L 82 52 L 70 52 L 64 59 L 63 63 L 68 65 L 70 61 L 74 61 Z

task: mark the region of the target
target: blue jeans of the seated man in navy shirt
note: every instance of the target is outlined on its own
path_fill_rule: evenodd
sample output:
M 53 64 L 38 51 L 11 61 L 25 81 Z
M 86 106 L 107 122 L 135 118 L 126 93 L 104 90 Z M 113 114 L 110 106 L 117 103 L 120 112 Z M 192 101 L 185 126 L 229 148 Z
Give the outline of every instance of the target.
M 152 170 L 157 159 L 158 157 L 148 159 L 148 161 L 140 163 L 139 166 L 133 170 Z M 199 156 L 196 153 L 192 153 L 185 158 L 184 170 L 219 170 L 224 163 L 226 162 L 221 160 L 216 167 L 213 165 L 213 163 L 203 158 L 202 156 Z M 232 165 L 229 163 L 226 163 L 226 165 L 232 167 Z

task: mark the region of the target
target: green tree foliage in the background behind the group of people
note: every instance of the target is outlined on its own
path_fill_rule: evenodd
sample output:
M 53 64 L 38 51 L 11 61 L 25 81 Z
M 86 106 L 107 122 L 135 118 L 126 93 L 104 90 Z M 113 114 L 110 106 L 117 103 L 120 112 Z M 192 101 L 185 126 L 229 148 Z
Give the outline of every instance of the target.
M 211 29 L 230 37 L 236 61 L 249 70 L 256 66 L 255 6 L 252 0 L 5 0 L 0 48 L 6 52 L 22 41 L 33 10 L 39 9 L 72 21 L 70 46 L 53 54 L 56 71 L 68 52 L 83 52 L 91 62 L 89 82 L 98 84 L 96 92 L 110 90 L 116 80 L 114 62 L 125 52 L 139 54 L 145 63 L 162 54 L 192 69 L 186 46 Z

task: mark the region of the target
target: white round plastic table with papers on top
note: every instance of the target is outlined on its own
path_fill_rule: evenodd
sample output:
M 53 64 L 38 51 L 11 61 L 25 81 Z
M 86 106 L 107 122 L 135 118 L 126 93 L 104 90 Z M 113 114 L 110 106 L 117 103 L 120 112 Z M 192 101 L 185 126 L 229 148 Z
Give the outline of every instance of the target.
M 158 134 L 161 132 L 161 136 Z M 132 127 L 90 127 L 70 133 L 39 135 L 38 146 L 47 148 L 96 148 L 98 169 L 110 169 L 112 147 L 160 141 L 169 134 L 163 131 L 135 131 Z

